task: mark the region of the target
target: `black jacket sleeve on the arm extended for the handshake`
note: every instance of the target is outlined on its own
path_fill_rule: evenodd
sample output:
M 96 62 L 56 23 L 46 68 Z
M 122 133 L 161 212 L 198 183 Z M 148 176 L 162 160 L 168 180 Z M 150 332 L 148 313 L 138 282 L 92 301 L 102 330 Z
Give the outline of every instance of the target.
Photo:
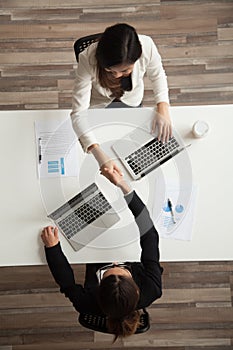
M 140 289 L 143 290 L 144 304 L 149 305 L 162 295 L 163 268 L 159 263 L 159 235 L 145 204 L 136 192 L 131 192 L 125 199 L 140 232 L 141 263 L 144 267 Z

